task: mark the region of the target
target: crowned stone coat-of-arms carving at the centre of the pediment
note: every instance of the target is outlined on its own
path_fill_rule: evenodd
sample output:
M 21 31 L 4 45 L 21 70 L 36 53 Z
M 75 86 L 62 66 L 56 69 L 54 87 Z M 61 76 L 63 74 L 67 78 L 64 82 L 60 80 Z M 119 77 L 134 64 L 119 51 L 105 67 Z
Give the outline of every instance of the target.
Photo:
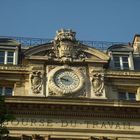
M 56 57 L 63 62 L 73 61 L 73 59 L 83 60 L 86 58 L 84 52 L 78 48 L 79 42 L 75 39 L 75 32 L 72 30 L 57 31 L 54 39 L 54 49 Z

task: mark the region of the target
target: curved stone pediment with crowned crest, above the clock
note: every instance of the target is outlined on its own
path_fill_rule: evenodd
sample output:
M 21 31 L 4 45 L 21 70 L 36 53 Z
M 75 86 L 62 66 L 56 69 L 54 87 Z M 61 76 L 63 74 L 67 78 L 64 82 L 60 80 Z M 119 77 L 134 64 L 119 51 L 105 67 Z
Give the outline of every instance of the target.
M 59 30 L 51 43 L 32 47 L 25 51 L 27 59 L 60 62 L 102 62 L 109 56 L 93 47 L 81 44 L 72 30 Z

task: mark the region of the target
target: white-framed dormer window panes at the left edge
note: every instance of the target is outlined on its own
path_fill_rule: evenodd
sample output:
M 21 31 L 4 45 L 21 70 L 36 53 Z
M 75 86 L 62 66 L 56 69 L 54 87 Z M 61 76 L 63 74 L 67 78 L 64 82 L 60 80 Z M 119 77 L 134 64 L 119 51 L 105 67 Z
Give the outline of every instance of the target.
M 15 64 L 14 51 L 12 50 L 0 51 L 0 64 Z

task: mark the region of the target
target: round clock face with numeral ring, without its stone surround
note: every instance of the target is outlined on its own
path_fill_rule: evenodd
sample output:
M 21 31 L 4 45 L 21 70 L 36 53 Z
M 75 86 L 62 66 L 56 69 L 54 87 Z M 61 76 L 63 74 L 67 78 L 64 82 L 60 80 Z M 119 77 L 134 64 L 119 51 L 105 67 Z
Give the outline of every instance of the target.
M 80 79 L 71 70 L 62 70 L 55 74 L 54 82 L 62 90 L 72 91 L 78 87 Z

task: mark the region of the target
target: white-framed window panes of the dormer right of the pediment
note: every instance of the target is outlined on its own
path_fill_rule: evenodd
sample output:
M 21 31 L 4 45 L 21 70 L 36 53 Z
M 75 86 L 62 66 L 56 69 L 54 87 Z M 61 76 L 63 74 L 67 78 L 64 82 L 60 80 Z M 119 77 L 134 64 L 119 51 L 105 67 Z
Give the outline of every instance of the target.
M 130 68 L 129 55 L 113 55 L 114 67 L 116 69 L 127 70 Z

